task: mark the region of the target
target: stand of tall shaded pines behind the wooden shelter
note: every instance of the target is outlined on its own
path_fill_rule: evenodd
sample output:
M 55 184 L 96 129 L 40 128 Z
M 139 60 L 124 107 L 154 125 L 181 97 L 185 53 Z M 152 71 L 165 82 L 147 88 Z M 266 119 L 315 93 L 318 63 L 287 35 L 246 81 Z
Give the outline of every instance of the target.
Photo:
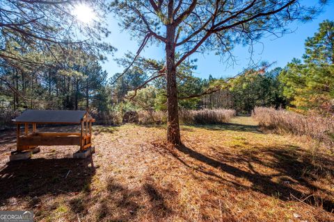
M 72 55 L 45 58 L 33 52 L 29 56 L 43 60 L 41 65 L 1 66 L 1 110 L 100 108 L 107 80 L 100 60 L 80 49 L 67 49 L 67 53 Z

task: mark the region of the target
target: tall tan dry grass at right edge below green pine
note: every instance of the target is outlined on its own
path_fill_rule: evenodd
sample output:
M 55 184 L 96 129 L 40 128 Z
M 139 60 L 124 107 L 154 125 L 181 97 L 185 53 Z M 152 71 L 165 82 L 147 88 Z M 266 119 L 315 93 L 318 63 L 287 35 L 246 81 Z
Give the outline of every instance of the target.
M 323 117 L 319 114 L 298 114 L 287 110 L 257 107 L 252 117 L 259 125 L 278 133 L 306 135 L 324 142 L 326 146 L 334 146 L 334 117 Z

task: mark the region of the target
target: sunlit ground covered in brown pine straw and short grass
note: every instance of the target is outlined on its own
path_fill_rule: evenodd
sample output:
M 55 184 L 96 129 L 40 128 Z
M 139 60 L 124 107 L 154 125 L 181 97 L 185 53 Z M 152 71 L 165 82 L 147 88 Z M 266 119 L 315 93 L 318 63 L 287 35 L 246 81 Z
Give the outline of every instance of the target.
M 93 158 L 42 146 L 18 162 L 8 162 L 15 131 L 1 132 L 0 210 L 33 210 L 35 221 L 334 221 L 333 155 L 250 117 L 182 126 L 178 148 L 166 126 L 94 130 Z

